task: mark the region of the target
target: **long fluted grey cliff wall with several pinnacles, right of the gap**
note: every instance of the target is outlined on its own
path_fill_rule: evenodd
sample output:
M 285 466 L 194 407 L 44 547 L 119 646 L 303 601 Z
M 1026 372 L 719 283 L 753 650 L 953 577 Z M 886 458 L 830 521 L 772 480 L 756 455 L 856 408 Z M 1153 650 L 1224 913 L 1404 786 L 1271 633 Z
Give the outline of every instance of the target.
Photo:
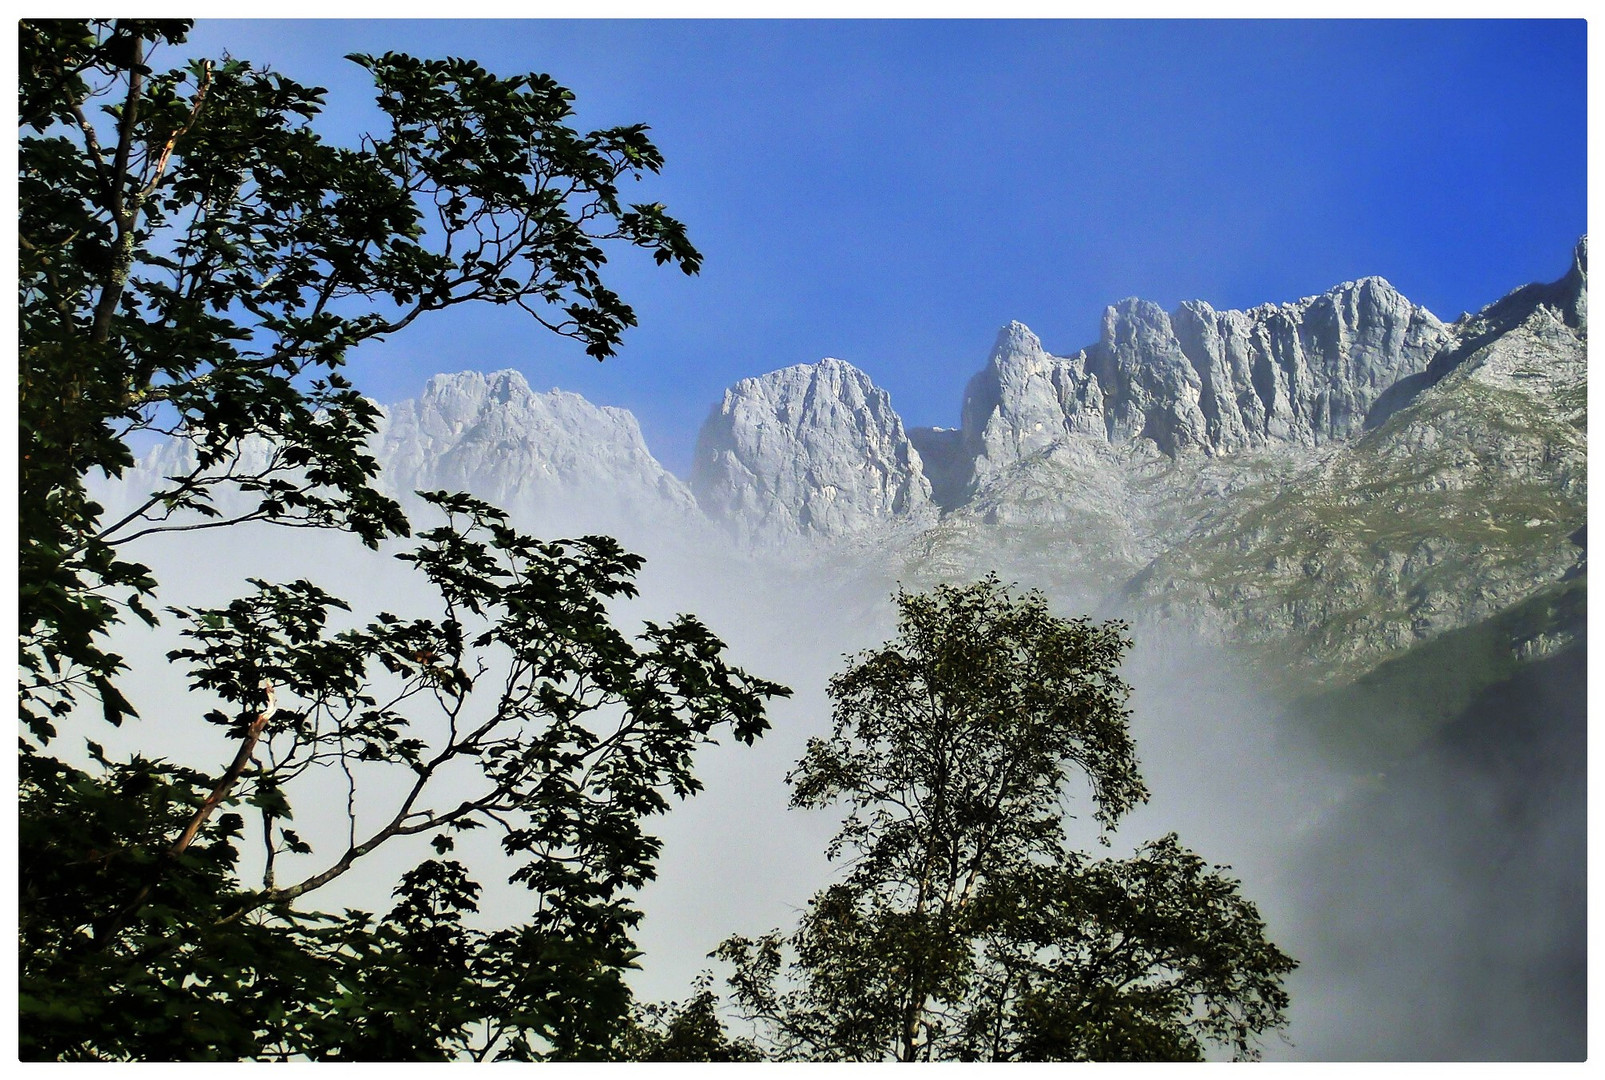
M 1382 278 L 1250 311 L 1189 300 L 1167 315 L 1122 300 L 1104 311 L 1099 340 L 1066 358 L 1011 323 L 965 393 L 973 481 L 1064 435 L 1148 441 L 1170 457 L 1323 446 L 1359 432 L 1372 403 L 1448 340 Z

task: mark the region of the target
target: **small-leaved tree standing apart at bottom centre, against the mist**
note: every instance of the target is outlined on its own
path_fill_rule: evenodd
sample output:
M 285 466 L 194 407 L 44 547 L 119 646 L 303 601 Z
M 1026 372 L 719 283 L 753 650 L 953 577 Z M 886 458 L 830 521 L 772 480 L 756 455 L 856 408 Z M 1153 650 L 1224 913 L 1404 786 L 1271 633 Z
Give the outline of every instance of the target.
M 738 1009 L 788 1059 L 1254 1058 L 1295 964 L 1239 883 L 1175 836 L 1125 860 L 1067 846 L 1067 782 L 1106 831 L 1148 798 L 1124 627 L 995 576 L 896 603 L 788 777 L 793 806 L 846 807 L 827 851 L 846 876 L 790 936 L 719 947 Z

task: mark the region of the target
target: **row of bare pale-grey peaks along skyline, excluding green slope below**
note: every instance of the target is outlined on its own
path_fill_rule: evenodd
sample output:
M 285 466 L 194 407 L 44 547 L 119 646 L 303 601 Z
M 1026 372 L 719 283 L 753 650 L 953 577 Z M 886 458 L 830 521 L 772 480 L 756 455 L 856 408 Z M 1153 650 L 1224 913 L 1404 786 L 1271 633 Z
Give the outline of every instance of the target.
M 1213 461 L 1337 446 L 1453 369 L 1538 388 L 1534 358 L 1550 345 L 1557 359 L 1542 379 L 1571 385 L 1586 318 L 1583 238 L 1562 281 L 1517 289 L 1453 327 L 1380 276 L 1249 310 L 1188 300 L 1165 311 L 1127 297 L 1071 356 L 1010 321 L 965 387 L 957 428 L 905 430 L 889 395 L 846 359 L 791 364 L 724 393 L 689 485 L 652 459 L 628 412 L 534 393 L 512 369 L 430 379 L 392 411 L 382 456 L 398 488 L 427 475 L 510 502 L 628 493 L 618 497 L 632 510 L 692 512 L 748 541 L 920 528 L 982 504 L 998 520 L 1034 520 L 1059 510 L 1053 499 L 1011 505 L 1037 483 L 1010 480 L 1022 469 L 1051 478 L 1066 462 L 1125 469 L 1112 462 L 1133 454 Z

